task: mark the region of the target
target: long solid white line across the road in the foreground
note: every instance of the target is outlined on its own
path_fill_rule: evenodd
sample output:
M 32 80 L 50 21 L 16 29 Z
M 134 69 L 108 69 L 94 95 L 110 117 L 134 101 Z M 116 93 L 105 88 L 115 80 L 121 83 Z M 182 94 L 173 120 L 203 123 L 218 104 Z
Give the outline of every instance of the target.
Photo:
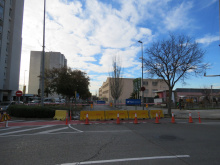
M 112 160 L 98 160 L 98 161 L 87 161 L 87 162 L 75 162 L 65 163 L 61 165 L 77 165 L 77 164 L 103 164 L 113 162 L 127 162 L 137 160 L 153 160 L 153 159 L 177 159 L 177 158 L 189 158 L 189 155 L 174 155 L 174 156 L 152 156 L 152 157 L 141 157 L 141 158 L 125 158 L 125 159 L 112 159 Z

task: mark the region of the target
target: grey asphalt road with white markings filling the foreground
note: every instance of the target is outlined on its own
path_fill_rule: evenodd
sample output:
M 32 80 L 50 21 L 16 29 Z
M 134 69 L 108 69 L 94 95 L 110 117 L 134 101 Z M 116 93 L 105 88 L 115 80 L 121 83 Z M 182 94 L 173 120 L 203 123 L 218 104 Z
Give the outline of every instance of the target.
M 0 164 L 219 164 L 220 121 L 176 121 L 0 128 Z

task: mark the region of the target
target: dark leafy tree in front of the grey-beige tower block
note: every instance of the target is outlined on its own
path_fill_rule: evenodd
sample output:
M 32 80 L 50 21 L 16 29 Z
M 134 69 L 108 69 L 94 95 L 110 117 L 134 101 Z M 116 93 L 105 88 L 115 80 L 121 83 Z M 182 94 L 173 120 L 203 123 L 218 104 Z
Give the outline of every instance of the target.
M 53 68 L 46 70 L 45 77 L 45 91 L 49 94 L 57 93 L 70 99 L 77 91 L 83 99 L 91 96 L 90 78 L 85 72 L 66 67 Z

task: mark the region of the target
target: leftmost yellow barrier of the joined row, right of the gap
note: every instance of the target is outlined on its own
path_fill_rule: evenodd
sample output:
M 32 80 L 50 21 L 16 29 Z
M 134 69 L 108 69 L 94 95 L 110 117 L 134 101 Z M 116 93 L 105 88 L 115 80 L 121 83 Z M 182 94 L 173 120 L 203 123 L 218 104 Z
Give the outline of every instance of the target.
M 105 111 L 81 111 L 80 120 L 86 120 L 86 114 L 89 120 L 105 120 Z

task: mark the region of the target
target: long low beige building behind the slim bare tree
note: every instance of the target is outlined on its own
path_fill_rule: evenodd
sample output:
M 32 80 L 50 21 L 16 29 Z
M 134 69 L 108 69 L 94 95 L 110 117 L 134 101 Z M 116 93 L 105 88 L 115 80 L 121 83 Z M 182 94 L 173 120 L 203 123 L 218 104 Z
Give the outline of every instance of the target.
M 106 102 L 111 102 L 114 99 L 111 96 L 110 90 L 110 77 L 103 82 L 102 86 L 99 88 L 99 98 L 105 100 Z M 125 103 L 125 100 L 128 99 L 132 92 L 134 91 L 134 80 L 132 78 L 122 78 L 123 90 L 122 95 L 118 99 L 119 102 Z M 144 102 L 148 102 L 147 98 L 155 97 L 155 92 L 159 90 L 168 90 L 167 84 L 162 79 L 144 79 L 143 86 L 145 87 L 144 91 Z M 139 99 L 141 99 L 142 93 L 139 92 Z

